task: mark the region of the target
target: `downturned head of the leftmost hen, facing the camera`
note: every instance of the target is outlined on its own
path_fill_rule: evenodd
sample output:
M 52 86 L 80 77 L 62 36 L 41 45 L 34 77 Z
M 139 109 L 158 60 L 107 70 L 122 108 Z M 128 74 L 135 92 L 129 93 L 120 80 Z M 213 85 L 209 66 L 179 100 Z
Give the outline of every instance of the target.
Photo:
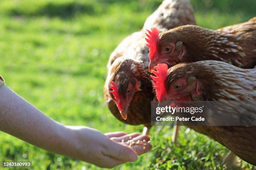
M 141 82 L 136 78 L 135 71 L 136 63 L 132 59 L 120 57 L 111 66 L 108 92 L 123 119 L 127 118 L 128 107 L 134 94 L 140 90 Z

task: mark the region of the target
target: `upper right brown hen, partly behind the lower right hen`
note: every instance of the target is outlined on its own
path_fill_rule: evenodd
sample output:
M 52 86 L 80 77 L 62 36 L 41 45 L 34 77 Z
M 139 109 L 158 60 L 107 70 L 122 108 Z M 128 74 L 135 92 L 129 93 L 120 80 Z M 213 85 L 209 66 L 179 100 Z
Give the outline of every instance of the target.
M 241 68 L 256 65 L 256 17 L 219 30 L 185 25 L 156 34 L 148 35 L 150 71 L 158 63 L 172 67 L 201 60 L 223 61 Z

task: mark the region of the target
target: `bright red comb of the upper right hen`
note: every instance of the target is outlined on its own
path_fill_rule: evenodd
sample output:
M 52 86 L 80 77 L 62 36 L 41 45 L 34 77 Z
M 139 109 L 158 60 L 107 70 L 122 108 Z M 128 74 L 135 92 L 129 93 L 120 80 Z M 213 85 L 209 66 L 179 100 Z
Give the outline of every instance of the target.
M 156 28 L 151 28 L 150 30 L 147 30 L 148 33 L 146 33 L 146 38 L 145 40 L 148 42 L 147 46 L 149 48 L 149 54 L 148 57 L 150 60 L 153 60 L 154 55 L 157 51 L 157 44 L 159 42 L 159 30 Z

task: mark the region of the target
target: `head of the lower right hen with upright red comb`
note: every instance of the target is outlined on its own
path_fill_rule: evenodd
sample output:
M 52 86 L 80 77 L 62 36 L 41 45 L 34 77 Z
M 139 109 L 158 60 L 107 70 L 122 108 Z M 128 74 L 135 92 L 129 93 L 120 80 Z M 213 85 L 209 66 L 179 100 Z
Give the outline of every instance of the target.
M 190 101 L 201 95 L 200 82 L 193 75 L 179 69 L 185 64 L 168 70 L 166 64 L 158 64 L 151 75 L 157 99 L 161 101 Z

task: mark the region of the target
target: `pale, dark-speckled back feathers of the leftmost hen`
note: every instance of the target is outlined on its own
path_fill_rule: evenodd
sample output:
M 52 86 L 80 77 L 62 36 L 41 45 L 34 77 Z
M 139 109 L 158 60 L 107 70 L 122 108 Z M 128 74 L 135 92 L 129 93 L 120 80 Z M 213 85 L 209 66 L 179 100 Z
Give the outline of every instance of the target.
M 164 0 L 161 5 L 152 13 L 144 23 L 143 28 L 128 35 L 118 47 L 111 53 L 107 67 L 121 56 L 128 56 L 142 60 L 148 67 L 148 47 L 146 46 L 146 30 L 157 28 L 160 32 L 181 26 L 195 25 L 195 16 L 189 0 Z

